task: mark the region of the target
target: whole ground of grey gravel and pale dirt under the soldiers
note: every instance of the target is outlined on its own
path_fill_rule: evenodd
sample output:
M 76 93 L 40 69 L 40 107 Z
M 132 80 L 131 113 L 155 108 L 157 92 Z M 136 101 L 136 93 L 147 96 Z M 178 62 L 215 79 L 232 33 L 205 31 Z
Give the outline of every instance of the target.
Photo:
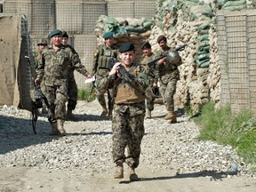
M 100 118 L 97 101 L 78 102 L 79 121 L 65 122 L 65 137 L 49 136 L 46 115 L 39 116 L 34 134 L 28 111 L 1 106 L 0 191 L 255 191 L 253 165 L 236 150 L 197 140 L 199 128 L 182 110 L 177 124 L 168 124 L 164 113 L 156 104 L 153 118 L 145 120 L 137 170 L 144 182 L 132 184 L 113 179 L 111 121 Z

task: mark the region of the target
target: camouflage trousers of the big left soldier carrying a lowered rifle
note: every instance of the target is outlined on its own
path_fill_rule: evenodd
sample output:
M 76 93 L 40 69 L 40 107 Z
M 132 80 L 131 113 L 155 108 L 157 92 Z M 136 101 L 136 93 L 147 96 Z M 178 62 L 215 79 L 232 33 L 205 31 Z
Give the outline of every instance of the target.
M 55 122 L 56 119 L 65 119 L 67 91 L 67 84 L 42 86 L 42 92 L 49 103 L 49 122 Z

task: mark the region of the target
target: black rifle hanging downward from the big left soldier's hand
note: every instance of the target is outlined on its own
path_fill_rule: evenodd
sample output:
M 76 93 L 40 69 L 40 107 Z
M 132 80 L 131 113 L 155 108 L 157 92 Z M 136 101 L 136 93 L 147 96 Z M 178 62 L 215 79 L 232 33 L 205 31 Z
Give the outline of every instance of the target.
M 28 56 L 25 56 L 25 59 L 28 61 L 28 64 L 30 66 L 30 68 L 32 68 L 31 62 L 29 60 Z M 41 88 L 39 84 L 35 84 L 34 82 L 34 78 L 32 77 L 33 80 L 33 84 L 34 84 L 34 89 L 31 90 L 32 94 L 31 96 L 31 115 L 32 115 L 32 128 L 33 128 L 33 132 L 36 134 L 36 121 L 38 119 L 38 108 L 43 108 L 43 100 L 47 106 L 47 108 L 49 108 L 49 104 L 48 101 L 46 100 Z

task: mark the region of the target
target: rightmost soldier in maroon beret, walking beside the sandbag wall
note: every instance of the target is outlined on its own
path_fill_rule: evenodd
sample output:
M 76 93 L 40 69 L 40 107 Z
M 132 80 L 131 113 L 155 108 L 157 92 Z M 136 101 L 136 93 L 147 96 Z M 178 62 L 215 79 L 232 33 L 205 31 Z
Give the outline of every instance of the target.
M 156 52 L 156 57 L 161 57 L 164 53 L 171 50 L 167 45 L 165 36 L 158 36 L 157 43 L 161 47 L 161 51 Z M 177 122 L 176 114 L 174 112 L 174 94 L 176 92 L 177 81 L 180 79 L 180 72 L 178 69 L 180 64 L 180 56 L 177 63 L 171 63 L 167 60 L 167 57 L 156 62 L 156 76 L 160 83 L 159 92 L 163 97 L 164 105 L 167 110 L 167 115 L 164 118 L 170 120 L 171 124 Z

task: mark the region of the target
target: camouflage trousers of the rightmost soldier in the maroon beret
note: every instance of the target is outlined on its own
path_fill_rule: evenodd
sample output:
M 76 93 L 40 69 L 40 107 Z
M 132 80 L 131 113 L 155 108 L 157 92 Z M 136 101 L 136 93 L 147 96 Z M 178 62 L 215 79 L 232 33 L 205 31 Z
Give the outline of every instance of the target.
M 176 92 L 177 79 L 172 78 L 167 84 L 161 84 L 159 92 L 164 100 L 164 105 L 167 111 L 174 111 L 174 94 Z

